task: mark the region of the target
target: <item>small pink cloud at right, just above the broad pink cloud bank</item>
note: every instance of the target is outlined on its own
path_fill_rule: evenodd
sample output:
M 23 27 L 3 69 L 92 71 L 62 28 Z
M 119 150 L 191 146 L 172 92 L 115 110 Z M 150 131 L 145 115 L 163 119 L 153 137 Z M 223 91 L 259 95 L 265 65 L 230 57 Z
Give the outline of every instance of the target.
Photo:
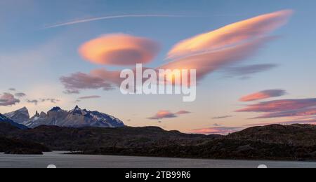
M 263 90 L 261 92 L 256 92 L 254 94 L 246 95 L 239 99 L 241 102 L 251 102 L 261 99 L 268 99 L 271 97 L 281 97 L 287 92 L 285 90 Z

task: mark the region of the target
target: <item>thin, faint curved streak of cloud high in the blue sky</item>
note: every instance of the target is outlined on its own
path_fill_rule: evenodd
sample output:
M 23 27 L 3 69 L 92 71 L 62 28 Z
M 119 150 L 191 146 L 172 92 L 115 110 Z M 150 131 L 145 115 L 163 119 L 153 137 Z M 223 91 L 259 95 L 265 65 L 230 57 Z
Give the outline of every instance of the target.
M 185 18 L 183 15 L 159 15 L 159 14 L 147 14 L 147 15 L 112 15 L 112 16 L 103 16 L 97 18 L 86 18 L 81 20 L 73 20 L 69 22 L 62 22 L 55 25 L 48 25 L 44 27 L 44 29 L 52 29 L 57 27 L 65 27 L 70 25 L 76 25 L 85 22 L 95 22 L 100 20 L 111 20 L 111 19 L 119 19 L 119 18 Z

